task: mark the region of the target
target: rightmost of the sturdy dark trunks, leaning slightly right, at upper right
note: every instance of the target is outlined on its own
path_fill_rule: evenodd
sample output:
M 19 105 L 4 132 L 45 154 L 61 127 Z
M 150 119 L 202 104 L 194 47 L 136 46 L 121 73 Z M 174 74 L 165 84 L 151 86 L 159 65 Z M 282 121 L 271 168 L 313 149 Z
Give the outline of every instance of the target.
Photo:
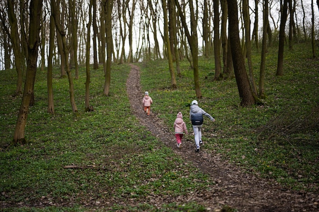
M 288 0 L 281 0 L 280 4 L 283 7 L 281 11 L 281 20 L 280 20 L 280 27 L 279 27 L 279 48 L 278 48 L 278 60 L 277 60 L 277 76 L 283 75 L 283 52 L 284 52 L 284 43 L 285 43 L 285 26 L 287 20 L 287 10 L 288 10 Z

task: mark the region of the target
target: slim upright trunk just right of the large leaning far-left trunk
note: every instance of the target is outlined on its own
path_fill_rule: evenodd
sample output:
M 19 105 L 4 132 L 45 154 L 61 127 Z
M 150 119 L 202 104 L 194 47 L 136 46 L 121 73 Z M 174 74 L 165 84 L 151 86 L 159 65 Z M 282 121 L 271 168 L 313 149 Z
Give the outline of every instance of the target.
M 53 49 L 55 47 L 55 27 L 54 17 L 50 16 L 49 55 L 47 59 L 47 111 L 51 114 L 55 113 L 52 86 L 52 57 Z

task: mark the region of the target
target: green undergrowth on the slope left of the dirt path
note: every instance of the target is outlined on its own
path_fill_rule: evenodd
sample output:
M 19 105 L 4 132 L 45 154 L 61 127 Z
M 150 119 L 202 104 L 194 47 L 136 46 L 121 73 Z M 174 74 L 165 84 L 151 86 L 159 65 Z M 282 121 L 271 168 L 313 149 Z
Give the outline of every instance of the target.
M 203 207 L 175 202 L 178 196 L 205 191 L 213 182 L 139 124 L 126 93 L 129 71 L 128 65 L 112 66 L 107 97 L 103 95 L 102 68 L 91 70 L 90 105 L 94 111 L 85 112 L 85 68 L 81 68 L 79 79 L 74 80 L 78 112 L 73 113 L 68 81 L 60 78 L 56 67 L 54 115 L 46 112 L 46 73 L 38 72 L 36 104 L 30 108 L 25 128 L 28 143 L 16 146 L 11 141 L 21 96 L 11 96 L 15 71 L 2 72 L 2 211 L 155 211 L 162 207 L 196 211 Z M 158 196 L 172 199 L 170 204 L 175 206 L 151 204 Z

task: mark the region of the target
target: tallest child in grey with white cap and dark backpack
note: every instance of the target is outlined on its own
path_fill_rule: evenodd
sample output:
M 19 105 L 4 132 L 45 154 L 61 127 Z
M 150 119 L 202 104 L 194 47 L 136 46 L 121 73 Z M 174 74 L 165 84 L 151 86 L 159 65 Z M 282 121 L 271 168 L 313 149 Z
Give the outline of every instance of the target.
M 196 144 L 196 152 L 199 152 L 199 144 L 203 144 L 202 142 L 202 126 L 203 126 L 203 115 L 207 116 L 215 122 L 215 118 L 211 117 L 208 113 L 206 113 L 202 108 L 198 106 L 198 102 L 194 100 L 191 105 L 190 110 L 190 119 L 192 121 L 194 135 L 195 135 L 195 144 Z

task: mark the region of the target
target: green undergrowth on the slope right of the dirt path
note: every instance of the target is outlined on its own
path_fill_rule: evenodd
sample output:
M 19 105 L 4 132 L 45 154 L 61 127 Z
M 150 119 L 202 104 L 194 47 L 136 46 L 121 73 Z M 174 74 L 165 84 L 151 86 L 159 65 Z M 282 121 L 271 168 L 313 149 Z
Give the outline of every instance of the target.
M 265 64 L 262 105 L 240 106 L 235 79 L 214 81 L 214 59 L 201 58 L 199 106 L 215 117 L 204 118 L 204 149 L 223 160 L 283 187 L 318 191 L 319 182 L 319 60 L 311 45 L 285 49 L 284 76 L 276 76 L 277 48 L 269 48 Z M 260 55 L 253 54 L 258 89 Z M 141 65 L 141 83 L 153 99 L 152 111 L 173 126 L 178 111 L 192 132 L 189 105 L 196 99 L 193 70 L 187 59 L 181 63 L 177 88 L 170 85 L 165 61 Z M 248 67 L 248 66 L 247 66 Z M 196 99 L 197 100 L 197 99 Z M 172 129 L 173 131 L 173 129 Z M 194 143 L 192 135 L 186 136 Z M 195 144 L 194 144 L 195 145 Z

